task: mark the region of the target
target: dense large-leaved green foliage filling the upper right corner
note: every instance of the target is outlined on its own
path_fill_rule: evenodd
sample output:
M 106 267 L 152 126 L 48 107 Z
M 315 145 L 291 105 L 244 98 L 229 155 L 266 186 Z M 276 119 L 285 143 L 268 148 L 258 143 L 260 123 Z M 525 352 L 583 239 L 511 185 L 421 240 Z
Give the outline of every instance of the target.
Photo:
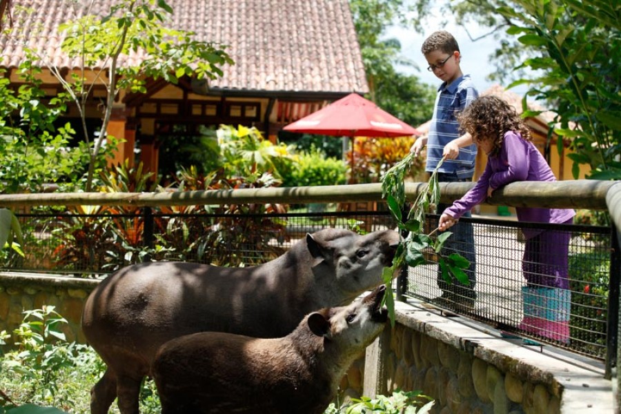
M 591 167 L 592 179 L 620 179 L 621 3 L 600 0 L 517 0 L 497 11 L 514 23 L 508 30 L 535 57 L 523 66 L 540 70 L 529 93 L 555 104 L 553 124 L 571 140 L 573 175 Z M 524 97 L 524 100 L 526 97 Z M 537 115 L 526 112 L 524 116 Z M 562 139 L 558 140 L 559 146 Z M 559 150 L 562 148 L 560 147 Z

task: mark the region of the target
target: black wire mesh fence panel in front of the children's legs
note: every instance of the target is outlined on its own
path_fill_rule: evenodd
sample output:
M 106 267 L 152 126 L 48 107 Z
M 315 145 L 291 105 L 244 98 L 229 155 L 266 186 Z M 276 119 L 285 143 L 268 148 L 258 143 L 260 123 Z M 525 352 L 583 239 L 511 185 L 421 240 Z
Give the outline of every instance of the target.
M 428 220 L 432 227 L 437 216 Z M 491 324 L 509 338 L 519 334 L 532 339 L 531 343 L 551 343 L 604 359 L 609 286 L 618 284 L 611 281 L 618 255 L 611 249 L 610 228 L 461 221 L 473 228 L 475 280 L 471 277 L 469 286 L 453 283 L 447 288 L 439 266 L 429 257 L 423 266 L 408 268 L 406 295 Z M 566 233 L 566 248 L 548 246 L 542 249 L 547 257 L 525 255 L 524 228 L 531 233 Z M 463 243 L 451 248 L 464 257 L 471 250 Z M 553 266 L 546 268 L 538 261 Z

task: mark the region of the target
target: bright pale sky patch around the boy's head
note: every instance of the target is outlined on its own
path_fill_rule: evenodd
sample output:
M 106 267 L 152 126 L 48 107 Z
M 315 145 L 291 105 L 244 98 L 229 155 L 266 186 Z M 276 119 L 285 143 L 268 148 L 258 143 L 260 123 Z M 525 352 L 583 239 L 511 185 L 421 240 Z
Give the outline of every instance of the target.
M 437 79 L 437 77 L 433 75 L 433 72 L 429 72 L 426 69 L 427 62 L 420 51 L 420 47 L 424 39 L 426 39 L 429 34 L 435 32 L 435 30 L 447 30 L 453 34 L 457 43 L 460 45 L 460 52 L 462 53 L 462 72 L 471 75 L 475 86 L 480 92 L 492 86 L 495 82 L 486 79 L 486 75 L 493 72 L 493 65 L 489 63 L 489 55 L 500 46 L 500 41 L 494 39 L 493 36 L 472 41 L 466 30 L 461 26 L 457 26 L 457 23 L 455 23 L 455 20 L 451 16 L 442 16 L 440 6 L 435 6 L 431 14 L 435 17 L 429 17 L 424 21 L 424 32 L 422 33 L 417 33 L 413 29 L 405 29 L 397 26 L 393 26 L 386 31 L 387 39 L 393 37 L 399 39 L 402 56 L 411 61 L 415 61 L 420 66 L 419 71 L 409 67 L 397 67 L 397 70 L 408 75 L 416 75 L 421 81 L 433 86 L 440 86 L 442 81 Z M 442 21 L 448 21 L 448 23 L 442 26 Z M 473 24 L 469 27 L 469 32 L 473 39 L 477 39 L 487 34 L 489 29 Z M 519 95 L 522 95 L 525 90 L 526 88 L 524 86 L 511 89 L 511 91 Z

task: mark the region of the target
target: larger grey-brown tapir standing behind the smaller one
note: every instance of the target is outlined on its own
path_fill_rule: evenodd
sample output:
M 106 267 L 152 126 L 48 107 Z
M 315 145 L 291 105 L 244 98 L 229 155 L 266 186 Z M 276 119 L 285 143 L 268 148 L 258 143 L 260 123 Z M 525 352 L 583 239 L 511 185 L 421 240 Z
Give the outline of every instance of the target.
M 141 380 L 170 339 L 202 331 L 282 337 L 307 313 L 348 304 L 382 283 L 399 241 L 393 230 L 324 229 L 259 266 L 122 268 L 93 290 L 82 313 L 83 333 L 108 366 L 92 388 L 91 413 L 107 414 L 116 397 L 122 414 L 138 413 Z

